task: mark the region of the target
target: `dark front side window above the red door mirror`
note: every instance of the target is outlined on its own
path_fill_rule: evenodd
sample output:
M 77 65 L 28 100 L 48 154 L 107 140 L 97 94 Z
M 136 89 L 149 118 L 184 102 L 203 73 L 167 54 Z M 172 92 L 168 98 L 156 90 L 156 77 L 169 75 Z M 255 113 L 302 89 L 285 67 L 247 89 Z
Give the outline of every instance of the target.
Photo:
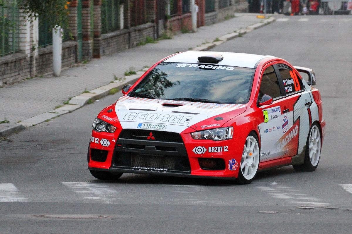
M 262 99 L 264 94 L 271 96 L 273 99 L 281 96 L 279 82 L 273 66 L 266 68 L 263 73 L 258 100 Z

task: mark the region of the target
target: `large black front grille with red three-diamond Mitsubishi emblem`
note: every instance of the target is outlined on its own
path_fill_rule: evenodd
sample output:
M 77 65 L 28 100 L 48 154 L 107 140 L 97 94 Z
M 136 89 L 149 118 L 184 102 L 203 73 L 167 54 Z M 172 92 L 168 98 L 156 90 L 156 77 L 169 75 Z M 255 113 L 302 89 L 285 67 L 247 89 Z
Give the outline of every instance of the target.
M 156 140 L 146 140 L 152 132 Z M 145 136 L 140 139 L 140 136 Z M 190 173 L 186 148 L 178 133 L 124 129 L 116 142 L 112 168 L 150 167 Z

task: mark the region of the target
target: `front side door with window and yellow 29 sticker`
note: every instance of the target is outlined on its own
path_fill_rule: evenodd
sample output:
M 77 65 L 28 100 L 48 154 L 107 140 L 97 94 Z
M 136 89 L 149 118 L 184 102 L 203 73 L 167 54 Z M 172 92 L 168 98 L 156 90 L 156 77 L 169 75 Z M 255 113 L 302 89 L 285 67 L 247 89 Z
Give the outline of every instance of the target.
M 272 97 L 271 105 L 260 106 L 264 121 L 259 124 L 260 162 L 282 158 L 284 149 L 275 144 L 282 138 L 282 129 L 288 125 L 288 102 L 282 81 L 278 79 L 277 69 L 265 66 L 260 78 L 258 103 L 264 94 Z

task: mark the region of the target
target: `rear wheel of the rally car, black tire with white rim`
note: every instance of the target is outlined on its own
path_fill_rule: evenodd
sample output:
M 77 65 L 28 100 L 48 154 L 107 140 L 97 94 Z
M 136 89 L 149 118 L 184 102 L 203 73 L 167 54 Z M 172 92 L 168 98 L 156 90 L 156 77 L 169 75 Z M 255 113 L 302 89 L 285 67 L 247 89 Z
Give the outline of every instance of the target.
M 310 128 L 306 143 L 304 162 L 301 165 L 292 165 L 295 171 L 313 172 L 318 167 L 321 151 L 321 134 L 319 126 L 314 123 Z

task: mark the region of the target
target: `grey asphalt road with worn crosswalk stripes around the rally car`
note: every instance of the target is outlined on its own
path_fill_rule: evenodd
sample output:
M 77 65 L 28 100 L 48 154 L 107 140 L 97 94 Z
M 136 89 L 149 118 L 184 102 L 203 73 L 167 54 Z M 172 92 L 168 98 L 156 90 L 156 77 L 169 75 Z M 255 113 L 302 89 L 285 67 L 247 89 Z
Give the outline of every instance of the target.
M 243 186 L 133 174 L 95 180 L 91 126 L 115 94 L 0 142 L 0 233 L 352 233 L 352 17 L 277 18 L 213 51 L 275 55 L 315 70 L 327 122 L 315 172 L 283 167 Z M 305 205 L 316 208 L 296 208 Z

